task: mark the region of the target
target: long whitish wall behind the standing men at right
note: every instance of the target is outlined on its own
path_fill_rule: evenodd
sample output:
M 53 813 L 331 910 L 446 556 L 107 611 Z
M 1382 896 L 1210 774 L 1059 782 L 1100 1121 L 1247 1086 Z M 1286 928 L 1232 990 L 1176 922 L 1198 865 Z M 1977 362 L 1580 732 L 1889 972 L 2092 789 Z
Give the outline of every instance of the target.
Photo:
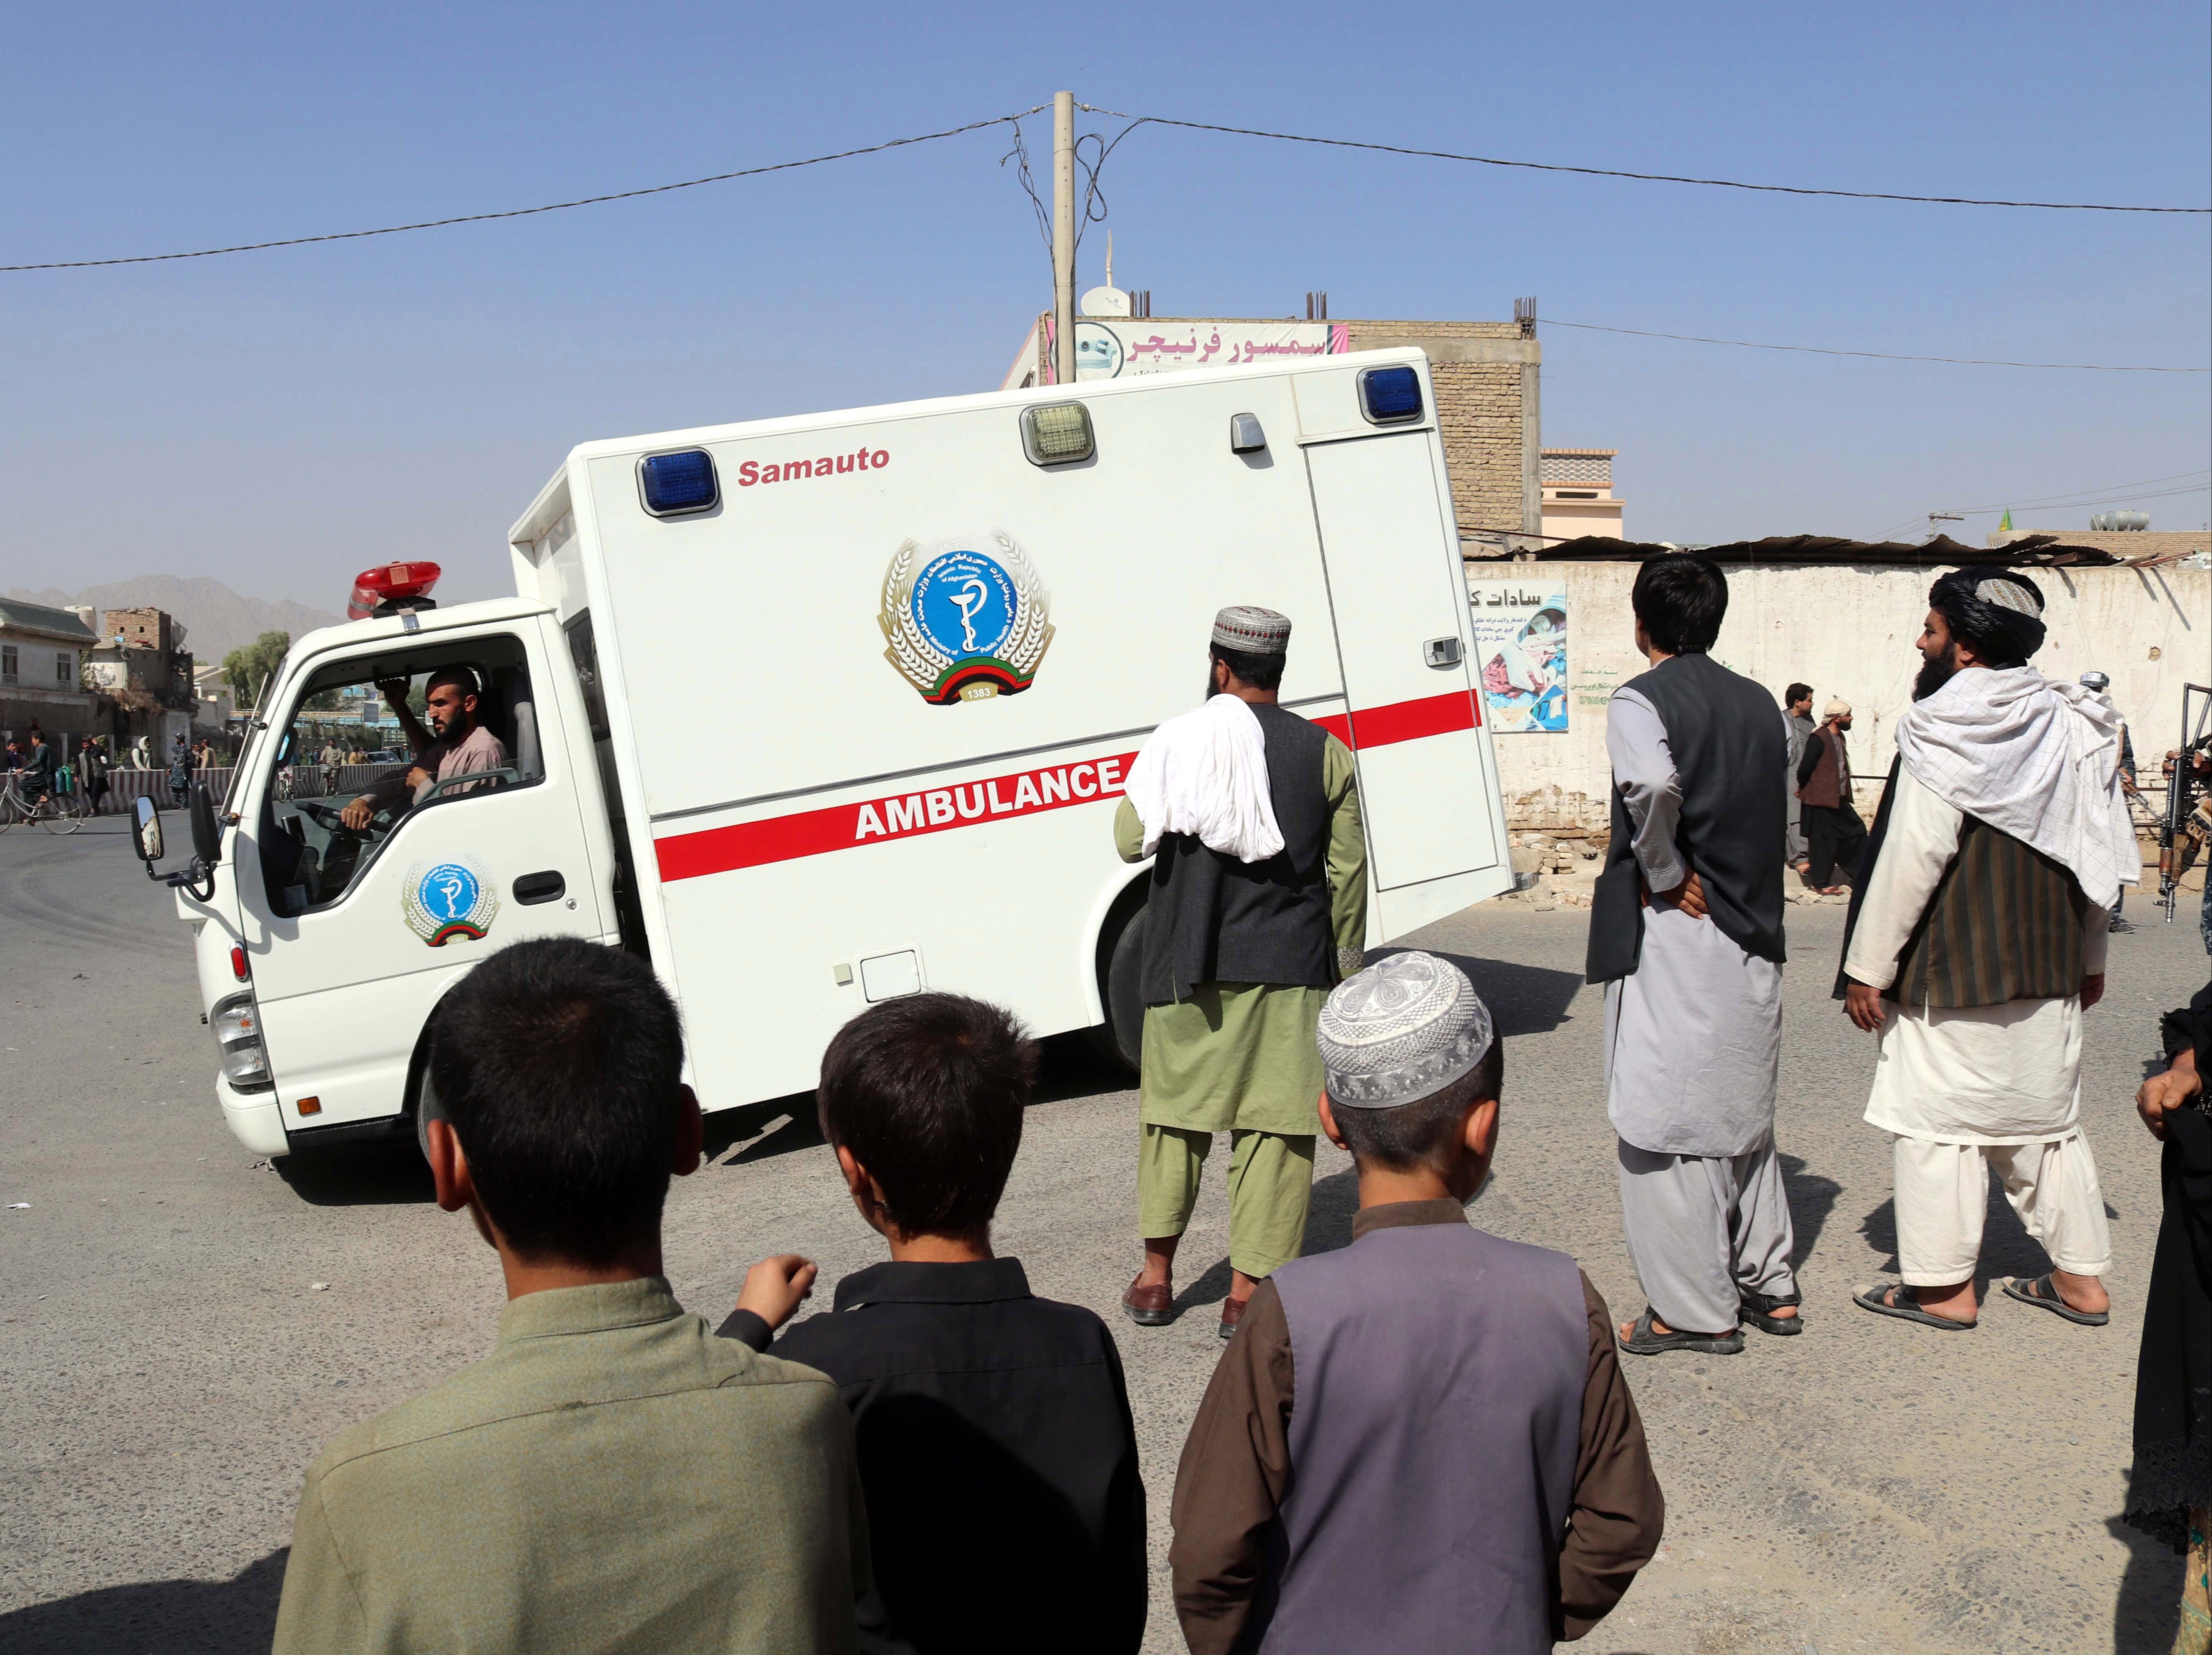
M 1568 604 L 1566 735 L 1498 737 L 1506 821 L 1515 830 L 1601 830 L 1613 770 L 1606 763 L 1606 701 L 1646 670 L 1635 650 L 1628 589 L 1637 564 L 1469 564 L 1471 575 L 1524 569 Z M 1542 573 L 1537 573 L 1542 571 Z M 1889 772 L 1896 719 L 1911 704 L 1927 617 L 1927 589 L 1942 566 L 1745 566 L 1728 569 L 1728 622 L 1712 655 L 1767 688 L 1781 717 L 1792 679 L 1851 704 L 1851 768 Z M 2212 571 L 2031 569 L 2046 602 L 2051 637 L 2035 666 L 2048 677 L 2088 668 L 2112 675 L 2112 699 L 2135 732 L 2143 781 L 2154 754 L 2179 739 L 2181 686 L 2212 684 Z M 1871 819 L 1876 788 L 1860 790 Z

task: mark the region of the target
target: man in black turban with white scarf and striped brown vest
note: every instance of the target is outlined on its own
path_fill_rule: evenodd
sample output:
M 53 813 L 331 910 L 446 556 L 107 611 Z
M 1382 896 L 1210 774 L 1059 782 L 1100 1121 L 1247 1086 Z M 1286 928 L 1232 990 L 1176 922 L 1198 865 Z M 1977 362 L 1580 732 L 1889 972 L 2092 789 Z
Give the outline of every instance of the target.
M 1836 998 L 1880 1035 L 1867 1124 L 1893 1139 L 1898 1268 L 1856 1303 L 1971 1328 L 1989 1170 L 2055 1270 L 2004 1292 L 2066 1321 L 2110 1316 L 2112 1243 L 2081 1137 L 2081 1013 L 2141 854 L 2119 785 L 2119 715 L 2046 679 L 2044 597 L 2011 569 L 1929 591 L 1913 704 L 1851 901 Z

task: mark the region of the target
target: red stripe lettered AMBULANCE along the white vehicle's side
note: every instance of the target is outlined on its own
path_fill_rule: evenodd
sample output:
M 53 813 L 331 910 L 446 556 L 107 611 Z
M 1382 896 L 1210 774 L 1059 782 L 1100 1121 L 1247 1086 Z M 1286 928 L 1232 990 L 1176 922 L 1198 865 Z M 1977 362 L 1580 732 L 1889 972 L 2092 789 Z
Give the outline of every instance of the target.
M 1349 719 L 1336 712 L 1314 719 L 1349 748 L 1387 748 L 1396 741 L 1418 741 L 1427 735 L 1473 730 L 1480 717 L 1467 690 L 1431 695 L 1420 701 L 1360 708 Z M 1358 741 L 1352 739 L 1354 728 Z M 922 788 L 918 792 L 865 799 L 823 810 L 801 810 L 790 816 L 741 821 L 730 828 L 706 828 L 692 834 L 670 834 L 653 841 L 664 881 L 728 874 L 737 867 L 787 863 L 801 856 L 823 856 L 832 850 L 876 845 L 889 839 L 918 839 L 953 828 L 991 821 L 993 816 L 1035 816 L 1044 810 L 1088 805 L 1119 799 L 1135 752 L 1084 763 L 1055 763 L 1042 770 L 1015 770 L 984 781 L 962 781 L 956 788 Z

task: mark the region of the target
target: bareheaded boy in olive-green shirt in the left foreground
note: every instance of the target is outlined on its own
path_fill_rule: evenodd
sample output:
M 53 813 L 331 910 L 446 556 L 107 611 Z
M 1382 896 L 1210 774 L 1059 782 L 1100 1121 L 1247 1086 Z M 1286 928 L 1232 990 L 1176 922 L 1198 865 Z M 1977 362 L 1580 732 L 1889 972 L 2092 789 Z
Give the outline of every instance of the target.
M 500 1255 L 484 1361 L 307 1467 L 276 1655 L 852 1651 L 867 1531 L 821 1374 L 717 1339 L 661 1277 L 699 1164 L 653 969 L 573 938 L 487 958 L 438 1009 L 438 1206 Z M 739 1303 L 785 1316 L 812 1266 Z

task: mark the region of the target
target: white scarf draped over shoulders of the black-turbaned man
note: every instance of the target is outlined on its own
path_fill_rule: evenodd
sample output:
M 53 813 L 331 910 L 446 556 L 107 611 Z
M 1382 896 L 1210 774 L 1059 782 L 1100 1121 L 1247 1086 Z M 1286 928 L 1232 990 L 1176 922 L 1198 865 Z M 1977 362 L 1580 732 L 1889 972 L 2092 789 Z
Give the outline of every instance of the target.
M 2119 712 L 2033 666 L 1966 666 L 1898 719 L 1913 779 L 2062 863 L 2097 907 L 2143 878 L 2119 790 Z

